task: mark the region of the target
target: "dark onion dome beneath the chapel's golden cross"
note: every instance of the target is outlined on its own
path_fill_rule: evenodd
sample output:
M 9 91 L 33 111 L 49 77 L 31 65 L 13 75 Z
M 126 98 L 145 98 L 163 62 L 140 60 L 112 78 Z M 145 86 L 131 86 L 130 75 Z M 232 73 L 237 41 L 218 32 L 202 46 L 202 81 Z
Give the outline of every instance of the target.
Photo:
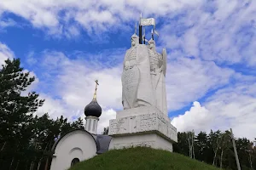
M 102 107 L 97 103 L 95 98 L 92 99 L 89 105 L 86 105 L 84 108 L 85 116 L 96 116 L 99 117 L 102 115 Z

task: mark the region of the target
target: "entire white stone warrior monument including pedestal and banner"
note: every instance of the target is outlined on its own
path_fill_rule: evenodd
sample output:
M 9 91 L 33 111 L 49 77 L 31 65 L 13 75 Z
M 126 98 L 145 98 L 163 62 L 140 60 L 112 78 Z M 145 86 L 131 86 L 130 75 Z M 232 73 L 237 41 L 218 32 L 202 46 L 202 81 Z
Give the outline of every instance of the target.
M 131 48 L 125 53 L 122 73 L 122 104 L 116 119 L 109 121 L 108 135 L 112 136 L 109 150 L 137 146 L 172 151 L 177 142 L 177 129 L 171 124 L 166 106 L 166 49 L 155 50 L 154 34 L 148 44 L 143 26 L 154 26 L 154 18 L 143 19 L 139 37 L 131 37 Z M 145 31 L 144 31 L 145 32 Z M 144 41 L 142 41 L 144 40 Z

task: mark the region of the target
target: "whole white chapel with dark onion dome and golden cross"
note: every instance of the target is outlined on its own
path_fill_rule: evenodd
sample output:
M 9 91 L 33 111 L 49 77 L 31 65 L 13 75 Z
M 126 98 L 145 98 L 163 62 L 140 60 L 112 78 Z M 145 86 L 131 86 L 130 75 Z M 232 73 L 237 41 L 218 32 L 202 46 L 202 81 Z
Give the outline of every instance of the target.
M 97 85 L 96 81 L 96 87 Z M 52 148 L 54 155 L 50 170 L 68 169 L 79 161 L 108 151 L 111 137 L 97 134 L 97 124 L 102 115 L 102 108 L 97 103 L 96 91 L 90 104 L 85 106 L 84 115 L 86 116 L 84 130 L 68 132 L 55 142 Z

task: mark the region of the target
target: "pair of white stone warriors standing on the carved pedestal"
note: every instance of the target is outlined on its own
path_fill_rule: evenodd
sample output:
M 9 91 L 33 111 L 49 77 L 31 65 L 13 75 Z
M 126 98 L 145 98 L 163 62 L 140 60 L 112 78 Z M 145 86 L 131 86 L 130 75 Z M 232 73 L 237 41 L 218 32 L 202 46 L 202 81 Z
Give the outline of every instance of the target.
M 154 37 L 148 45 L 131 36 L 131 48 L 125 53 L 122 73 L 122 104 L 124 110 L 153 105 L 167 115 L 166 49 L 155 50 Z

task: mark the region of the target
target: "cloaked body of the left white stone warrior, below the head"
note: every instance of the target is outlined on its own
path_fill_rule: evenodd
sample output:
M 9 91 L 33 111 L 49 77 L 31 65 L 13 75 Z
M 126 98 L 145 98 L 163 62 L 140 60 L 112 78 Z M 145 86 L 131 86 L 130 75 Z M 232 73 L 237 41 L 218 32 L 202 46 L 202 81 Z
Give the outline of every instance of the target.
M 154 105 L 148 48 L 144 44 L 128 49 L 122 73 L 122 104 L 124 109 Z

